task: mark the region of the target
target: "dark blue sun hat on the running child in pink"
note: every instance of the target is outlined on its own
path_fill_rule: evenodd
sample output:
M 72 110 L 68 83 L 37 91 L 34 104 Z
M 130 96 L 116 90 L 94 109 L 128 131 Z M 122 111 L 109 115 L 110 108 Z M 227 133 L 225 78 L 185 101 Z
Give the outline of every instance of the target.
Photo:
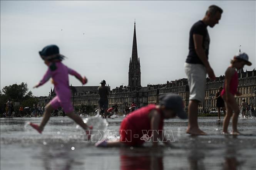
M 42 59 L 47 59 L 49 61 L 63 60 L 66 58 L 64 55 L 60 54 L 59 47 L 57 45 L 45 46 L 42 51 L 39 51 L 39 54 Z

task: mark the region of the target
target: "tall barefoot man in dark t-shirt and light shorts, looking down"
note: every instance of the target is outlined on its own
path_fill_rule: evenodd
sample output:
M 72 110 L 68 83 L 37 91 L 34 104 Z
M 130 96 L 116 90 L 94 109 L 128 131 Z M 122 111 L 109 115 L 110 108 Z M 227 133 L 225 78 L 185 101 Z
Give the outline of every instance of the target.
M 189 32 L 189 54 L 184 64 L 189 85 L 189 122 L 187 133 L 191 135 L 206 135 L 197 124 L 199 102 L 204 101 L 204 86 L 206 73 L 209 78 L 215 79 L 214 72 L 208 62 L 210 38 L 207 26 L 211 28 L 219 23 L 223 10 L 216 5 L 211 5 L 202 20 L 197 21 Z M 203 88 L 202 88 L 203 85 Z

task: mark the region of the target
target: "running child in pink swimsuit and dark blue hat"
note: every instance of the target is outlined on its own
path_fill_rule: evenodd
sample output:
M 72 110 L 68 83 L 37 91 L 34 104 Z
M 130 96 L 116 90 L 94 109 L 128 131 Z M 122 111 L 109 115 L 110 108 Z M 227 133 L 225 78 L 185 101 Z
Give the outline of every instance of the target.
M 45 73 L 43 79 L 35 85 L 33 88 L 42 86 L 50 78 L 52 78 L 52 83 L 54 84 L 54 89 L 56 96 L 47 104 L 45 107 L 44 117 L 40 125 L 29 123 L 34 129 L 36 129 L 40 134 L 44 130 L 45 124 L 50 119 L 52 111 L 58 107 L 62 107 L 71 119 L 73 119 L 77 124 L 79 124 L 83 129 L 88 130 L 92 127 L 88 127 L 83 120 L 74 113 L 74 108 L 70 101 L 71 91 L 69 88 L 69 74 L 75 76 L 81 81 L 82 84 L 87 83 L 87 79 L 80 76 L 76 71 L 68 68 L 62 64 L 62 59 L 65 58 L 62 54 L 59 54 L 59 48 L 56 45 L 49 45 L 43 48 L 42 51 L 39 51 L 41 58 L 44 60 L 44 63 L 49 67 Z M 88 132 L 88 131 L 87 131 Z

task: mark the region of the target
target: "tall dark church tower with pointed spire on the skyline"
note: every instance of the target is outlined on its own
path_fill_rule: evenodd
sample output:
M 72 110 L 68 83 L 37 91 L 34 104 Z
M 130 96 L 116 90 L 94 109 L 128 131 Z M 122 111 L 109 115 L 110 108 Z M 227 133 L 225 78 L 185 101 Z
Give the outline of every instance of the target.
M 132 59 L 130 58 L 128 74 L 129 74 L 128 87 L 141 87 L 141 64 L 140 64 L 140 59 L 138 59 L 138 53 L 137 53 L 135 21 L 134 21 L 133 43 L 132 43 Z

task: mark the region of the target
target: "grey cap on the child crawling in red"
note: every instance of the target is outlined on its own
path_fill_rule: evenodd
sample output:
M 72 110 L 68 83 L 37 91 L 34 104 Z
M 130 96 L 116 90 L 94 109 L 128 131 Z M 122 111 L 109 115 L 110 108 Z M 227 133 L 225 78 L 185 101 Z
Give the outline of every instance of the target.
M 165 106 L 167 109 L 174 110 L 181 119 L 187 119 L 187 114 L 183 110 L 182 98 L 177 94 L 161 96 L 159 104 Z

